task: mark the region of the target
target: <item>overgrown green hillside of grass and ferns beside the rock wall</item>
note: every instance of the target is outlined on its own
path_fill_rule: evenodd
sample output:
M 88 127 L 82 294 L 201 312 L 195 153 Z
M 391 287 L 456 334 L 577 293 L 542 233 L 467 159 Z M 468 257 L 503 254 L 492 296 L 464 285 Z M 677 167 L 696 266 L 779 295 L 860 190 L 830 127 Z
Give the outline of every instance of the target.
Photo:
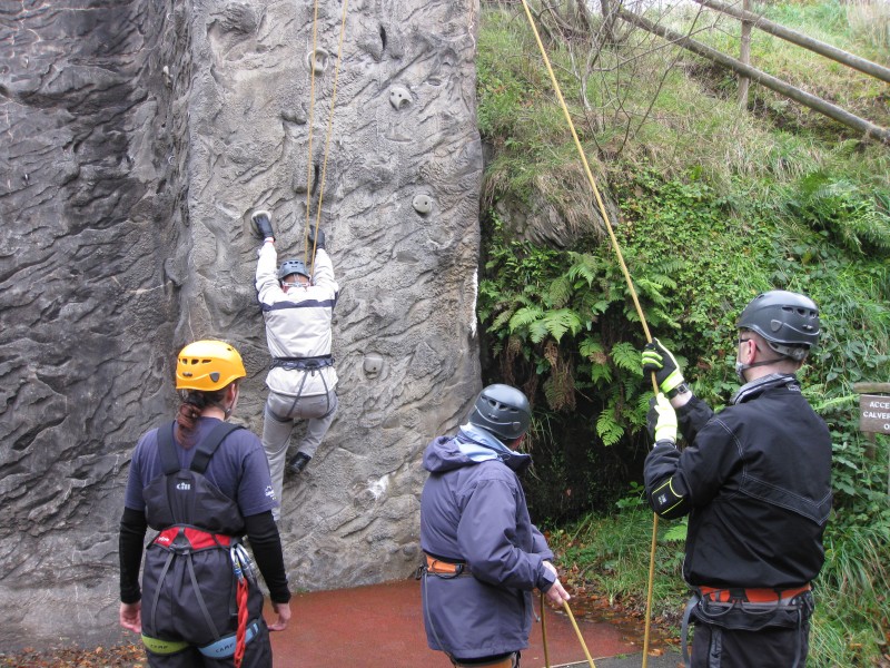
M 856 9 L 849 4 L 762 9 L 868 56 L 861 31 L 841 20 Z M 488 369 L 526 390 L 536 416 L 546 415 L 547 429 L 535 430 L 530 443 L 540 490 L 530 502 L 534 497 L 544 517 L 603 511 L 622 490 L 634 490 L 617 515 L 587 514 L 561 537 L 568 560 L 614 596 L 642 593 L 647 556 L 631 559 L 625 544 L 649 546 L 652 515 L 639 481 L 651 386 L 639 369 L 644 335 L 630 289 L 602 240 L 578 238 L 571 250 L 543 247 L 514 238 L 510 220 L 491 213 L 511 208 L 502 203 L 525 203 L 533 214 L 546 203 L 568 223 L 587 216 L 578 193 L 587 184 L 523 23 L 486 12 L 479 35 L 479 127 L 493 149 L 478 294 Z M 720 26 L 696 39 L 715 46 L 725 39 L 723 50 L 738 50 L 738 27 Z M 752 59 L 762 69 L 890 125 L 882 122 L 890 121 L 882 87 L 754 35 Z M 615 234 L 647 327 L 681 361 L 696 395 L 720 410 L 738 389 L 735 318 L 748 301 L 783 288 L 819 304 L 820 345 L 799 377 L 832 433 L 835 511 L 811 662 L 873 662 L 881 625 L 888 627 L 888 439 L 871 443 L 859 433 L 852 385 L 890 379 L 890 151 L 844 138 L 832 121 L 756 87 L 753 112 L 740 111 L 733 79 L 689 56 L 682 69 L 665 72 L 669 49 L 653 45 L 644 52 L 643 42 L 627 35 L 603 46 L 596 53 L 603 73 L 591 76 L 583 91 L 584 59 L 575 46 L 553 45 L 551 57 L 584 149 L 600 158 L 597 184 L 619 208 Z M 887 52 L 872 50 L 884 59 Z M 669 605 L 682 606 L 682 596 L 673 601 L 668 590 L 682 590 L 684 531 L 683 522 L 660 529 L 656 587 L 666 588 L 660 591 Z M 852 610 L 860 600 L 862 610 Z

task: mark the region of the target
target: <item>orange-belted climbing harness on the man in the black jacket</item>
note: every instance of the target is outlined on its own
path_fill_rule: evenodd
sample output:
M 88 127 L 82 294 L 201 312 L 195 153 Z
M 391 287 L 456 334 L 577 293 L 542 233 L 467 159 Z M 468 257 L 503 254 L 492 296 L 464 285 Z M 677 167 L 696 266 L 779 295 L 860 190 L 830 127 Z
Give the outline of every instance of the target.
M 810 584 L 793 589 L 691 587 L 692 597 L 683 611 L 680 629 L 683 664 L 690 666 L 689 623 L 692 617 L 713 627 L 759 631 L 764 628 L 800 629 L 813 611 Z M 794 662 L 800 664 L 802 639 L 794 645 Z

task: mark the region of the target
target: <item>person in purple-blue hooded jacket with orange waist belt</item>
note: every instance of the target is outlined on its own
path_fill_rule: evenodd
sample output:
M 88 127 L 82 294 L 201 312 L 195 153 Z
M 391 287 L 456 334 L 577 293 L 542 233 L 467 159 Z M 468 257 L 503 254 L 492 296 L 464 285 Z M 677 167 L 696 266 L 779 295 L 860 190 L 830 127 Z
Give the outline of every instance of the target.
M 531 423 L 525 395 L 488 385 L 455 436 L 424 452 L 422 599 L 427 644 L 455 666 L 514 668 L 528 646 L 532 591 L 568 600 L 553 552 L 532 524 L 515 452 Z

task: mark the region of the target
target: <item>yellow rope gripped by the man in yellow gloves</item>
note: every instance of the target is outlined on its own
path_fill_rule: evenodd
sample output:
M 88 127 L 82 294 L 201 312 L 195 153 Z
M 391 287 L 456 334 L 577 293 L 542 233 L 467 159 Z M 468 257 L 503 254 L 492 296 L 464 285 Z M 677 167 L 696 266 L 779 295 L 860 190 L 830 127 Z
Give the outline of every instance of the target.
M 645 315 L 643 314 L 643 308 L 640 306 L 640 299 L 636 296 L 636 289 L 633 286 L 633 281 L 631 279 L 631 274 L 627 271 L 627 265 L 624 262 L 624 256 L 621 253 L 621 246 L 619 245 L 619 240 L 615 237 L 615 233 L 612 229 L 612 223 L 609 219 L 609 214 L 605 210 L 605 206 L 603 205 L 603 198 L 600 196 L 600 189 L 596 187 L 596 180 L 593 178 L 593 173 L 591 171 L 590 165 L 587 164 L 587 157 L 584 155 L 584 148 L 581 146 L 581 140 L 577 138 L 577 132 L 575 131 L 575 125 L 572 122 L 572 116 L 568 114 L 568 107 L 565 104 L 565 99 L 563 98 L 562 90 L 560 89 L 560 84 L 556 81 L 556 75 L 553 73 L 553 67 L 551 67 L 550 58 L 547 57 L 547 51 L 544 49 L 544 43 L 541 41 L 541 36 L 537 32 L 537 27 L 535 26 L 534 18 L 532 17 L 532 10 L 528 8 L 528 2 L 526 0 L 522 0 L 522 6 L 525 8 L 525 16 L 528 18 L 528 24 L 532 27 L 532 31 L 535 36 L 535 41 L 537 42 L 537 48 L 541 49 L 541 56 L 544 58 L 544 65 L 547 67 L 547 72 L 550 73 L 551 81 L 553 82 L 553 90 L 556 94 L 556 97 L 560 99 L 560 105 L 563 109 L 563 114 L 565 115 L 565 120 L 568 124 L 568 129 L 572 131 L 572 137 L 575 140 L 575 147 L 577 148 L 578 156 L 581 157 L 581 161 L 584 165 L 584 173 L 587 175 L 587 180 L 591 184 L 591 188 L 593 189 L 593 194 L 596 197 L 596 204 L 600 208 L 600 215 L 603 217 L 603 223 L 605 224 L 606 230 L 609 232 L 609 238 L 612 242 L 612 248 L 617 256 L 619 264 L 621 265 L 621 273 L 624 275 L 624 279 L 627 283 L 627 288 L 631 293 L 631 297 L 633 298 L 633 305 L 636 308 L 636 314 L 640 316 L 640 324 L 643 326 L 643 333 L 645 334 L 646 342 L 652 343 L 652 335 L 649 333 L 649 325 L 646 324 Z M 655 394 L 659 393 L 659 384 L 655 380 L 655 373 L 652 373 L 652 387 Z M 650 558 L 649 558 L 649 586 L 646 590 L 646 621 L 645 621 L 645 632 L 643 635 L 643 668 L 646 668 L 649 661 L 649 635 L 650 628 L 652 626 L 652 583 L 655 577 L 655 546 L 657 544 L 657 537 L 659 537 L 659 515 L 652 515 L 652 546 L 650 549 Z M 568 610 L 568 606 L 565 606 L 566 610 Z M 571 616 L 571 611 L 570 611 Z M 574 621 L 574 619 L 573 619 Z M 577 628 L 577 627 L 575 627 Z M 586 648 L 585 648 L 586 649 Z

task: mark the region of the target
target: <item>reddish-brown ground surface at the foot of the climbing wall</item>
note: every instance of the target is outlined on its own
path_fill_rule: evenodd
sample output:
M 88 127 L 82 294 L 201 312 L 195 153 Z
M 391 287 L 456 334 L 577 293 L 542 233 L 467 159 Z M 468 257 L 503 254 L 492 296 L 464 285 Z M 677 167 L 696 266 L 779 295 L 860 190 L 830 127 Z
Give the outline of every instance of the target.
M 540 601 L 536 601 L 536 608 Z M 571 601 L 570 601 L 571 606 Z M 386 584 L 295 595 L 288 629 L 271 635 L 276 668 L 449 668 L 451 661 L 426 645 L 421 583 Z M 540 613 L 540 612 L 538 612 Z M 576 618 L 596 668 L 642 666 L 642 647 L 614 625 Z M 590 666 L 568 617 L 547 608 L 544 623 L 552 668 Z M 546 665 L 541 623 L 532 626 L 523 668 Z M 650 656 L 652 668 L 676 668 L 680 655 Z

